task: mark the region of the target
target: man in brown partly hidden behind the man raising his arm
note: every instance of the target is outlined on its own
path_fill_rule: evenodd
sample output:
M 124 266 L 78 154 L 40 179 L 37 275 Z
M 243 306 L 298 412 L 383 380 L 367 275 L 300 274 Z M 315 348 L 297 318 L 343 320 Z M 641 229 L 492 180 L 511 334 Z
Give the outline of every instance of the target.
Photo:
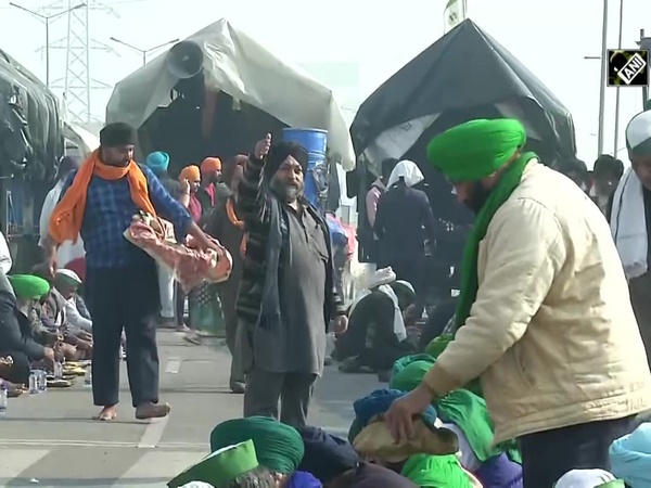
M 221 301 L 224 324 L 226 329 L 226 344 L 231 354 L 230 389 L 234 394 L 243 394 L 246 389 L 244 373 L 240 358 L 240 348 L 237 345 L 238 313 L 235 304 L 240 288 L 242 274 L 242 258 L 245 253 L 246 239 L 244 236 L 244 221 L 240 219 L 237 211 L 238 185 L 242 180 L 243 168 L 248 157 L 237 155 L 224 168 L 224 180 L 229 185 L 232 194 L 206 219 L 205 230 L 208 234 L 219 240 L 229 251 L 233 267 L 231 275 L 225 283 L 217 285 L 217 293 Z

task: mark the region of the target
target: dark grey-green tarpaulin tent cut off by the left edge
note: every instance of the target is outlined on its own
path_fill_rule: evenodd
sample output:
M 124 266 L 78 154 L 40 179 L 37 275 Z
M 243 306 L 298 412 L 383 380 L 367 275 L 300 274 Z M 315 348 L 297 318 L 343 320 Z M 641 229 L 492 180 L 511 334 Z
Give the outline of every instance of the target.
M 56 98 L 0 50 L 0 174 L 20 172 L 29 180 L 50 181 L 63 151 Z

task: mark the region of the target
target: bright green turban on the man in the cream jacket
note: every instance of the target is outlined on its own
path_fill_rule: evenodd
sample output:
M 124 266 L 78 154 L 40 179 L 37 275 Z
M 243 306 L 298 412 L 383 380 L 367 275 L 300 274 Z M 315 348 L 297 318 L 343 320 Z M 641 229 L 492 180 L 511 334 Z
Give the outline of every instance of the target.
M 519 120 L 470 120 L 432 139 L 427 159 L 452 182 L 477 181 L 501 168 L 525 142 Z

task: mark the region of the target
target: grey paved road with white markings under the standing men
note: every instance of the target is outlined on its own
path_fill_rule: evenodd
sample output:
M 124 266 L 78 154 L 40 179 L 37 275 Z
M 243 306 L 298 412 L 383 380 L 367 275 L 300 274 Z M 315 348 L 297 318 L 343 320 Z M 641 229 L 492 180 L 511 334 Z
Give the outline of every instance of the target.
M 165 487 L 207 454 L 213 427 L 242 410 L 242 396 L 228 389 L 228 352 L 186 345 L 173 332 L 159 334 L 158 343 L 161 399 L 173 406 L 168 419 L 133 419 L 124 367 L 123 403 L 112 423 L 90 420 L 97 409 L 81 381 L 10 400 L 0 420 L 0 487 Z M 378 385 L 372 375 L 329 368 L 317 386 L 310 423 L 345 434 L 352 401 Z

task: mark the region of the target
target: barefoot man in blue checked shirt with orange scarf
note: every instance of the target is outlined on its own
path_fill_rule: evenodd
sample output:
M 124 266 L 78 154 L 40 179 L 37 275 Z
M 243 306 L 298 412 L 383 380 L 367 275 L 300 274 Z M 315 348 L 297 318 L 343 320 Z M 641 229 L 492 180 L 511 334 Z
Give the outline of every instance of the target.
M 215 247 L 154 174 L 133 162 L 136 140 L 136 130 L 126 124 L 104 127 L 99 150 L 66 179 L 49 226 L 52 273 L 59 245 L 84 239 L 86 295 L 93 321 L 92 393 L 94 404 L 102 408 L 97 419 L 103 421 L 117 414 L 123 329 L 136 418 L 161 418 L 170 410 L 158 403 L 156 266 L 124 237 L 132 216 L 140 210 L 159 215 L 174 223 L 179 241 L 190 234 L 201 248 Z

